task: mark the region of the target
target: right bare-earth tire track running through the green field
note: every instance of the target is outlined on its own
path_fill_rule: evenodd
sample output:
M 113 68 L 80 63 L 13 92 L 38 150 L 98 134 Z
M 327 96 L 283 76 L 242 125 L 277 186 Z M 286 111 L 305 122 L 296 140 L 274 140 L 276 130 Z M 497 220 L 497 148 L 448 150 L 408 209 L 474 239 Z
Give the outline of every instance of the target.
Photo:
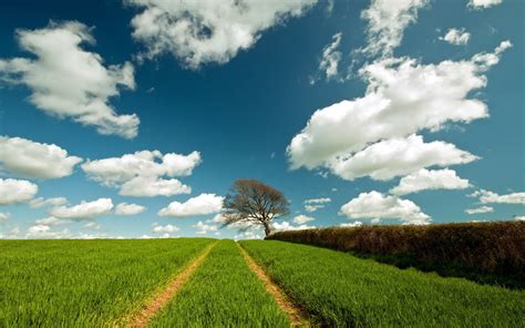
M 288 315 L 290 325 L 292 327 L 312 327 L 310 321 L 302 315 L 302 310 L 294 305 L 290 299 L 282 293 L 282 290 L 275 285 L 270 277 L 259 267 L 249 254 L 238 244 L 240 254 L 243 254 L 248 267 L 256 274 L 256 276 L 265 284 L 266 290 L 274 296 L 277 305 Z

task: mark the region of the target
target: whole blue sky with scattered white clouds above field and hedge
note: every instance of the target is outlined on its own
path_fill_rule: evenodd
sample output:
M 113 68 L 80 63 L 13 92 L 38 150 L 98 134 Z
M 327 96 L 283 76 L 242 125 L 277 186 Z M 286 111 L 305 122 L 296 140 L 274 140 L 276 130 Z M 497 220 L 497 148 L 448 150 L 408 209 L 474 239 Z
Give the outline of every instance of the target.
M 524 219 L 518 0 L 0 3 L 0 238 Z

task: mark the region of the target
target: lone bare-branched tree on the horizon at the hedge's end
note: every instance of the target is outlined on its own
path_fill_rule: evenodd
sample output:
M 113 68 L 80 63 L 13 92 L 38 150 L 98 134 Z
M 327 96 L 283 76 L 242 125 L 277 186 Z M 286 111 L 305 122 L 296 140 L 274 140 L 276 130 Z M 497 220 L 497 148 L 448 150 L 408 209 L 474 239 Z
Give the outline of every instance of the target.
M 224 201 L 224 225 L 245 224 L 244 229 L 262 225 L 266 236 L 271 232 L 272 219 L 289 214 L 285 195 L 257 180 L 234 182 Z

